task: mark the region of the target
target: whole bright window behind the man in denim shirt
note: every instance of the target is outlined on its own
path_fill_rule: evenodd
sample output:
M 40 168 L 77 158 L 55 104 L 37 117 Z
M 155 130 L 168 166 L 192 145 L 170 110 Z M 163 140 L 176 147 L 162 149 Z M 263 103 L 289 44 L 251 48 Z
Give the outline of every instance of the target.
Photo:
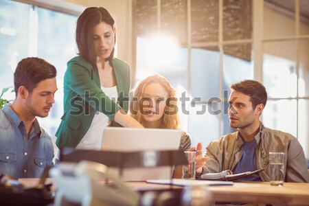
M 0 0 L 0 89 L 14 87 L 14 69 L 23 58 L 38 56 L 54 65 L 58 87 L 56 102 L 47 118 L 38 118 L 52 136 L 63 113 L 62 82 L 67 61 L 76 55 L 76 19 L 77 16 L 34 5 Z

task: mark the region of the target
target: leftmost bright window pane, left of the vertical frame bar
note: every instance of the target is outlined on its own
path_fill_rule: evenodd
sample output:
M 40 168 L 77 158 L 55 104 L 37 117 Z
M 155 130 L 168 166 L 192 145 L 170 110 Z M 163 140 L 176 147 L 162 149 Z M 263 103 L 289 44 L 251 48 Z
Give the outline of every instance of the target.
M 12 87 L 17 62 L 27 57 L 31 5 L 0 1 L 0 87 Z M 19 14 L 19 17 L 16 16 Z

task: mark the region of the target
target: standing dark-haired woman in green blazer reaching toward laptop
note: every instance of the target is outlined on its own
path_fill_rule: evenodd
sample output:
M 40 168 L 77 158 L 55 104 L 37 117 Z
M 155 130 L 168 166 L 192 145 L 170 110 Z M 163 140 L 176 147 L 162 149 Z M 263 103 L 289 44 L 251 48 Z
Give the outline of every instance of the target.
M 67 63 L 64 115 L 56 145 L 60 149 L 100 150 L 104 127 L 109 124 L 143 127 L 126 115 L 130 66 L 114 57 L 115 21 L 105 8 L 82 12 L 76 25 L 76 43 L 79 56 Z

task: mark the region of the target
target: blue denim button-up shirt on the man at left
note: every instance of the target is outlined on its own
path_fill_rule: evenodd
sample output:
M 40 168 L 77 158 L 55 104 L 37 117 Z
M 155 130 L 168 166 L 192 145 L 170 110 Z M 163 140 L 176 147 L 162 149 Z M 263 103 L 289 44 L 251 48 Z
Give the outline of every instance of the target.
M 19 178 L 40 177 L 46 165 L 53 165 L 54 146 L 35 119 L 27 137 L 25 124 L 5 104 L 0 110 L 0 173 Z

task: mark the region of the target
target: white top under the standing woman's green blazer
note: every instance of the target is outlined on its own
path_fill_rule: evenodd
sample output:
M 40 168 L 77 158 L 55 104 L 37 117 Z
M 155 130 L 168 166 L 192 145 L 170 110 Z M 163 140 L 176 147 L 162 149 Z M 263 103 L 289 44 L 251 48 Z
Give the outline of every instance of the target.
M 102 91 L 105 93 L 108 98 L 117 102 L 118 91 L 117 86 L 115 87 L 102 87 Z M 102 144 L 103 130 L 108 124 L 111 123 L 104 113 L 99 111 L 95 112 L 91 125 L 87 133 L 82 137 L 82 140 L 76 146 L 77 149 L 91 149 L 91 150 L 100 150 Z

